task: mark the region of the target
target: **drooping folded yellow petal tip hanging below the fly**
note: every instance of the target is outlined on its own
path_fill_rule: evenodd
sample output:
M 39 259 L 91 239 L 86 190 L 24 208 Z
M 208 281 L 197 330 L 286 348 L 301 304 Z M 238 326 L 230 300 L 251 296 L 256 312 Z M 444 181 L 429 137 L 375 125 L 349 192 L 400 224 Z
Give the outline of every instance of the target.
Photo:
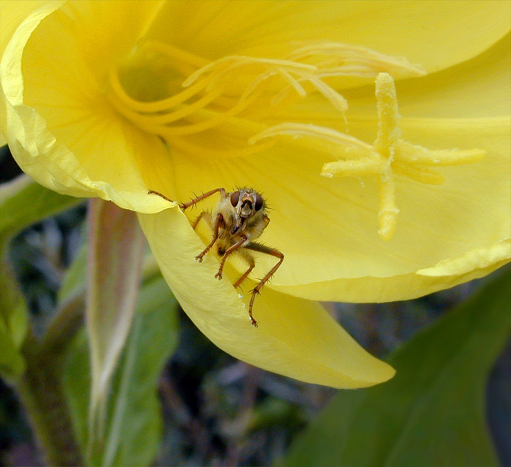
M 203 244 L 180 209 L 140 214 L 139 220 L 175 297 L 220 349 L 263 369 L 332 387 L 367 387 L 394 375 L 317 303 L 263 290 L 254 328 L 245 308 L 250 294 L 242 300 L 229 281 L 214 279 L 213 256 L 195 261 Z

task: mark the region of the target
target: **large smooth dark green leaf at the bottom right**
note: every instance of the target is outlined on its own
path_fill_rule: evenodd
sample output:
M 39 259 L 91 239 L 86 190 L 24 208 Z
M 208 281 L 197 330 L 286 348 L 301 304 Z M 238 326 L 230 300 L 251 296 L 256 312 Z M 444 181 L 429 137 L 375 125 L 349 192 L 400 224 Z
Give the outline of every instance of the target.
M 394 379 L 338 393 L 282 465 L 499 465 L 485 383 L 511 335 L 510 290 L 508 270 L 395 352 Z

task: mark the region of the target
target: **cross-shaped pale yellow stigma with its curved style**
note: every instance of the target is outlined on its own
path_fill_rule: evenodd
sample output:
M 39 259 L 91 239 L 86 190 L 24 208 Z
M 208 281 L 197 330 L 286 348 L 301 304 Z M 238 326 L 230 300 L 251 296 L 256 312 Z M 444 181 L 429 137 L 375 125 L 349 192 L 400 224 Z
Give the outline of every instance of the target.
M 379 124 L 376 140 L 372 145 L 331 128 L 303 123 L 280 123 L 252 136 L 250 142 L 274 136 L 311 139 L 315 141 L 316 150 L 342 157 L 341 160 L 324 164 L 321 173 L 324 177 L 377 177 L 379 235 L 383 240 L 390 240 L 394 235 L 399 213 L 395 200 L 395 173 L 424 184 L 442 184 L 442 175 L 429 170 L 427 166 L 476 162 L 485 156 L 485 151 L 428 150 L 401 139 L 394 80 L 388 73 L 380 73 L 376 78 L 376 102 Z

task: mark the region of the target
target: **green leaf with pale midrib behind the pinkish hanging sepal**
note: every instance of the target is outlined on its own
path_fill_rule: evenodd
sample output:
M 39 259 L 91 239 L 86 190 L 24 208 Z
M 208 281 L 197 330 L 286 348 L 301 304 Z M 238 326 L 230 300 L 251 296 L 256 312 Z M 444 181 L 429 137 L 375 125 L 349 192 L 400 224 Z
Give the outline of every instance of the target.
M 157 383 L 178 339 L 177 301 L 159 276 L 143 286 L 123 355 L 116 370 L 102 449 L 94 466 L 148 466 L 161 437 Z M 90 396 L 89 350 L 85 333 L 69 349 L 64 388 L 80 445 L 87 446 Z

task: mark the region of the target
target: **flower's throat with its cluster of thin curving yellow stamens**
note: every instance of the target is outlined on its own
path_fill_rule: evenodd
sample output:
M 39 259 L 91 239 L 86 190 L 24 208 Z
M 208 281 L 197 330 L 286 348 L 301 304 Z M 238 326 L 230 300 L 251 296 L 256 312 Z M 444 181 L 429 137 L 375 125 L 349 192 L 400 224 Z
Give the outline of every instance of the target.
M 153 67 L 153 74 L 162 75 L 157 81 L 160 94 L 165 94 L 168 76 L 174 82 L 181 77 L 182 89 L 169 82 L 168 96 L 162 98 L 151 97 L 150 82 L 139 90 L 130 89 L 141 86 L 137 80 L 151 76 L 144 73 L 144 67 Z M 406 76 L 424 72 L 404 59 L 335 43 L 297 44 L 282 59 L 231 55 L 210 62 L 171 44 L 141 41 L 125 62 L 110 70 L 107 96 L 134 125 L 168 140 L 218 125 L 240 125 L 245 112 L 268 114 L 290 91 L 294 98 L 306 98 L 316 91 L 339 112 L 345 112 L 347 101 L 324 78 L 375 76 L 382 69 Z

